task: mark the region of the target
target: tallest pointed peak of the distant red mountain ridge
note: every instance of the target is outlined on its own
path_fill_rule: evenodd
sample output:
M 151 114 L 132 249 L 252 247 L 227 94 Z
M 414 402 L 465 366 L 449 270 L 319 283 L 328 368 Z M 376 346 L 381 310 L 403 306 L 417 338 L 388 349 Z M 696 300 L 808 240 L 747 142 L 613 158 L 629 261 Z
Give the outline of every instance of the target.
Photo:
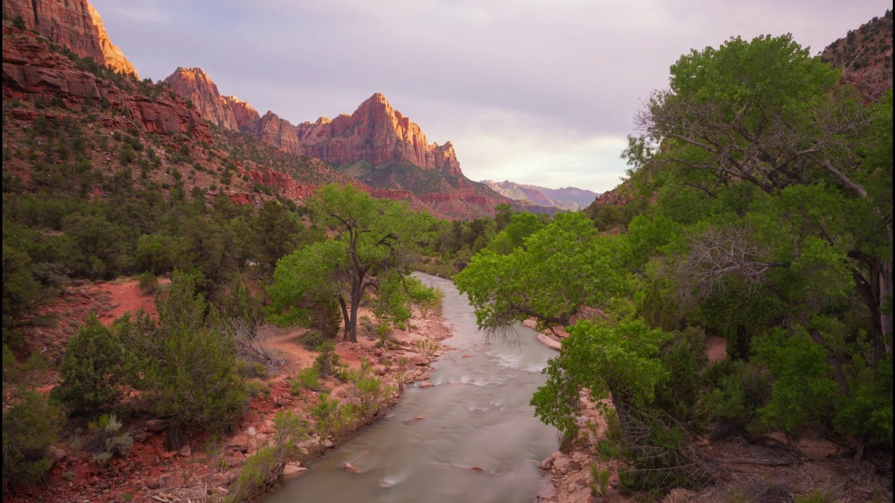
M 339 115 L 334 120 L 320 117 L 314 123 L 298 124 L 296 130 L 312 156 L 334 165 L 403 160 L 422 169 L 463 175 L 449 141 L 440 146 L 430 144 L 420 126 L 392 108 L 379 93 L 364 101 L 352 115 Z

